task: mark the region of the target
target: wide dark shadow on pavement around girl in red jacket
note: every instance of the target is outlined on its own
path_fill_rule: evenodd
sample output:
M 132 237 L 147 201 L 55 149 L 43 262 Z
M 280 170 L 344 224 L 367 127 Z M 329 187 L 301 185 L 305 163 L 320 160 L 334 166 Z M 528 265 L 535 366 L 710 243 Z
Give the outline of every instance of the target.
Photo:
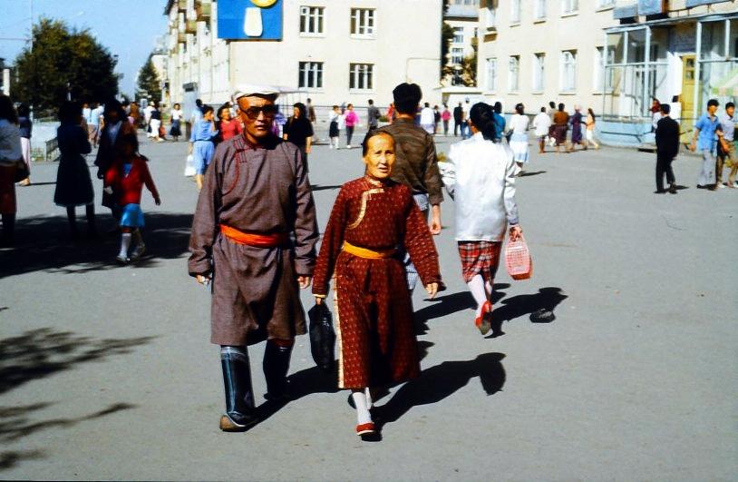
M 78 216 L 84 232 L 85 221 Z M 98 213 L 98 224 L 112 223 L 107 212 Z M 147 256 L 132 264 L 149 268 L 160 259 L 179 258 L 188 251 L 191 214 L 152 212 L 146 214 L 143 237 Z M 33 271 L 84 273 L 111 270 L 120 266 L 115 255 L 120 246 L 117 233 L 101 234 L 91 241 L 70 241 L 69 226 L 63 216 L 21 219 L 15 226 L 15 250 L 0 251 L 0 278 Z

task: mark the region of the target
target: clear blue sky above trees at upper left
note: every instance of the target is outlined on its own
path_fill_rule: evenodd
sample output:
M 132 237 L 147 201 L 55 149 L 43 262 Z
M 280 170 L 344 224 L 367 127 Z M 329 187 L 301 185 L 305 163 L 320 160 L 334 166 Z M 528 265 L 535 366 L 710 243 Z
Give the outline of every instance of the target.
M 34 18 L 48 16 L 78 29 L 89 28 L 111 54 L 118 54 L 117 73 L 123 74 L 121 92 L 133 93 L 134 80 L 151 53 L 156 37 L 166 34 L 162 15 L 166 0 L 0 0 L 0 57 L 12 64 L 25 43 L 4 40 L 27 38 Z

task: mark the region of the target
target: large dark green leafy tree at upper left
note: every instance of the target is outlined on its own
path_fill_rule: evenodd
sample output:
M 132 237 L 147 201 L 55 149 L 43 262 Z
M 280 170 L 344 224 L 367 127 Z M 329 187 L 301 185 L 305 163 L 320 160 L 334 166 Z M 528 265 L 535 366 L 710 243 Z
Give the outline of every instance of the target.
M 36 115 L 56 113 L 71 95 L 83 102 L 106 102 L 118 93 L 116 61 L 88 29 L 70 30 L 59 20 L 34 25 L 34 49 L 15 59 L 15 101 L 34 106 Z

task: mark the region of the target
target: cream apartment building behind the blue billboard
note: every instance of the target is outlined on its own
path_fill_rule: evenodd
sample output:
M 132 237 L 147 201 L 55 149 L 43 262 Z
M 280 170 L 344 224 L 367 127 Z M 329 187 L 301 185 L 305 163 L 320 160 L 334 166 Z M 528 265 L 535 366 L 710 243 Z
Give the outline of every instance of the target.
M 268 4 L 269 2 L 267 2 Z M 170 103 L 225 102 L 238 84 L 316 105 L 392 102 L 413 82 L 441 100 L 440 0 L 170 0 Z

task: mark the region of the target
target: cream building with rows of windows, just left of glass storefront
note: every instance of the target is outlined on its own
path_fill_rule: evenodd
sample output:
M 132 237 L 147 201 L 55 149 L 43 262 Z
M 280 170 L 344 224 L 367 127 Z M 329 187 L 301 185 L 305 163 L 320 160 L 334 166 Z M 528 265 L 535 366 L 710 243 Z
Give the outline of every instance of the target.
M 549 101 L 601 111 L 615 0 L 481 0 L 478 86 L 506 112 Z

